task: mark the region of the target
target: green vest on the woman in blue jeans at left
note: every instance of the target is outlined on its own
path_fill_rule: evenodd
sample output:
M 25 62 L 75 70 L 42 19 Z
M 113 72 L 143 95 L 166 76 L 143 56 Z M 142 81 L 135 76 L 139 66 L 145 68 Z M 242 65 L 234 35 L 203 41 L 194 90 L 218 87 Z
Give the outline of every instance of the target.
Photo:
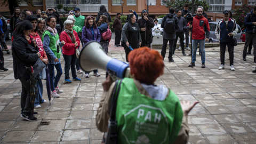
M 59 35 L 56 34 L 55 36 L 52 36 L 49 30 L 45 30 L 42 36 L 42 42 L 44 42 L 45 35 L 48 35 L 50 37 L 49 47 L 54 53 L 54 55 L 59 59 L 61 55 Z M 57 45 L 59 45 L 59 53 L 57 53 Z

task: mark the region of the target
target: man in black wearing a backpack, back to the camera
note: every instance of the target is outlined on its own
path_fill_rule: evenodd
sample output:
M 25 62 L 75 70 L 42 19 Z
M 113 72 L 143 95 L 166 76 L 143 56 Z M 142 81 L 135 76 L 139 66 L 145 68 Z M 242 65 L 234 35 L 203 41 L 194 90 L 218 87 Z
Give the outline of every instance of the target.
M 168 62 L 173 62 L 174 60 L 172 59 L 172 52 L 173 52 L 173 45 L 174 45 L 174 40 L 176 38 L 176 30 L 179 30 L 179 19 L 176 17 L 176 14 L 174 14 L 174 8 L 171 7 L 169 9 L 169 13 L 163 18 L 161 27 L 164 28 L 163 31 L 163 46 L 162 46 L 162 51 L 161 55 L 165 57 L 166 53 L 166 46 L 169 41 L 169 56 Z

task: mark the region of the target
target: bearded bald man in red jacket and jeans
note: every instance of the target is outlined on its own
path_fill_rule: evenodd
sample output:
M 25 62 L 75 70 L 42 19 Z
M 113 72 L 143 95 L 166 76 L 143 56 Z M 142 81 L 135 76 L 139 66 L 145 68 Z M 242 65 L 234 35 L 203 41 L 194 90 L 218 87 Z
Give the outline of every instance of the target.
M 193 24 L 188 23 L 187 29 L 192 29 L 192 62 L 188 67 L 195 66 L 196 62 L 196 49 L 199 43 L 199 49 L 201 50 L 201 60 L 202 68 L 205 68 L 205 51 L 204 44 L 205 41 L 209 41 L 210 36 L 210 26 L 209 22 L 203 16 L 203 10 L 201 7 L 198 7 L 196 11 L 196 17 L 193 18 Z M 206 38 L 205 38 L 206 34 Z

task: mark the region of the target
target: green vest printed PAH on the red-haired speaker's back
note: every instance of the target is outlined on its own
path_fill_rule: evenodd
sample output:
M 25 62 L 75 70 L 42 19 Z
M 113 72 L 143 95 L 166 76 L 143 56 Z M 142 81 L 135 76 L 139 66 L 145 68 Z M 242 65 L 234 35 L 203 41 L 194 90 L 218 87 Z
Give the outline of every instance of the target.
M 118 95 L 117 143 L 173 143 L 182 123 L 183 111 L 170 90 L 163 101 L 141 94 L 132 78 L 124 78 Z

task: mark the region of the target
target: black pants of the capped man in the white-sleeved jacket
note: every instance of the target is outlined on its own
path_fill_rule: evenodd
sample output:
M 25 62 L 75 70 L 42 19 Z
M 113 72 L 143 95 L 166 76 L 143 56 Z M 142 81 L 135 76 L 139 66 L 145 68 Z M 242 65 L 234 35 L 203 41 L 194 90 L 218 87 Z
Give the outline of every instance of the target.
M 221 64 L 225 65 L 225 52 L 226 46 L 228 45 L 228 53 L 229 53 L 229 65 L 234 65 L 234 46 L 232 46 L 231 42 L 220 43 L 220 61 Z

